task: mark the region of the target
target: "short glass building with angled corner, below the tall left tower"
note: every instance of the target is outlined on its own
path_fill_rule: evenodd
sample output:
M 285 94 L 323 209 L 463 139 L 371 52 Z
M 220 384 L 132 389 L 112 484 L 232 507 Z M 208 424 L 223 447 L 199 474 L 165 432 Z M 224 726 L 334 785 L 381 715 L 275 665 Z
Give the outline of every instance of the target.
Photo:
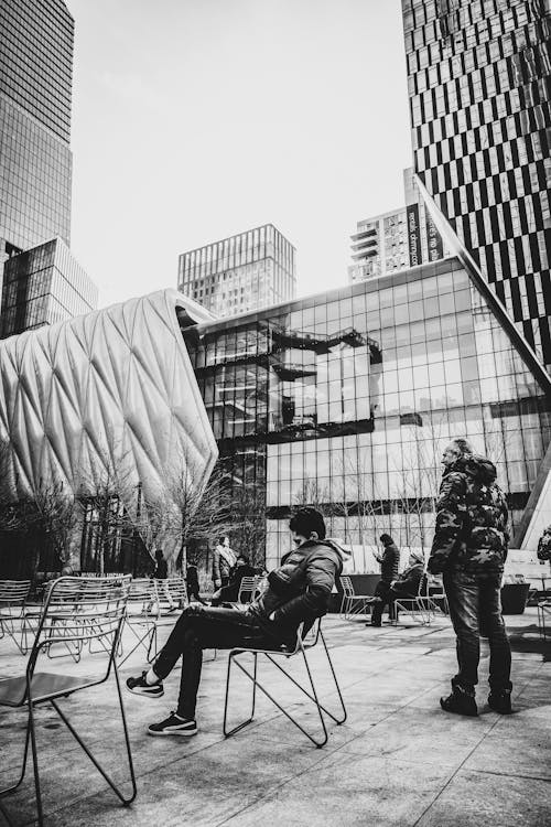
M 97 299 L 96 286 L 54 238 L 6 262 L 0 339 L 88 313 Z

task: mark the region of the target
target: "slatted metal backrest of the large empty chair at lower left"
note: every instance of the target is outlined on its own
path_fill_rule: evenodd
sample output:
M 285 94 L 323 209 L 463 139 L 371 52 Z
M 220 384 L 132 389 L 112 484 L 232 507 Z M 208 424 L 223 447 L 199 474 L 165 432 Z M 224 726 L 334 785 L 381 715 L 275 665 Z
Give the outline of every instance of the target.
M 130 590 L 131 576 L 119 578 L 62 577 L 50 586 L 36 629 L 30 664 L 42 649 L 98 641 L 110 654 L 109 673 Z

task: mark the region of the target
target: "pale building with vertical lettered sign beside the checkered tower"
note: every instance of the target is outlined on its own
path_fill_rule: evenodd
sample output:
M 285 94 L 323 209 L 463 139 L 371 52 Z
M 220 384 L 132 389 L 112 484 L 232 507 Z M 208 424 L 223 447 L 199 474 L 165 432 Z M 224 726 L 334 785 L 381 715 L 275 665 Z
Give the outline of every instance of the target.
M 412 168 L 403 171 L 406 206 L 358 222 L 352 238 L 348 281 L 386 276 L 450 256 L 426 210 Z

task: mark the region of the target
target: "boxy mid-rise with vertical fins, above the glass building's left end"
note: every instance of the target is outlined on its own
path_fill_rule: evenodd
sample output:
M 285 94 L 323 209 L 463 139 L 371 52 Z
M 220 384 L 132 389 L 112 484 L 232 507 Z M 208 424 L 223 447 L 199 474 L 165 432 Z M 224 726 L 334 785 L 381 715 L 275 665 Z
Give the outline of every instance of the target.
M 295 249 L 272 224 L 183 253 L 179 290 L 229 316 L 294 299 Z

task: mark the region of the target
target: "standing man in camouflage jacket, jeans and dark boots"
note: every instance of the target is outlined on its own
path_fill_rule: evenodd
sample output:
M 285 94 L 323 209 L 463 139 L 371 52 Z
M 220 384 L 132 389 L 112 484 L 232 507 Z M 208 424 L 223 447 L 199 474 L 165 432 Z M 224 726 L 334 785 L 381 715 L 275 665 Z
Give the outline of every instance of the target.
M 442 709 L 478 713 L 480 630 L 488 637 L 488 704 L 496 712 L 511 711 L 511 651 L 501 616 L 500 589 L 507 557 L 507 504 L 496 484 L 494 463 L 475 457 L 468 442 L 454 439 L 445 449 L 444 473 L 436 502 L 436 528 L 428 569 L 443 572 L 450 615 L 457 638 L 458 672 Z

